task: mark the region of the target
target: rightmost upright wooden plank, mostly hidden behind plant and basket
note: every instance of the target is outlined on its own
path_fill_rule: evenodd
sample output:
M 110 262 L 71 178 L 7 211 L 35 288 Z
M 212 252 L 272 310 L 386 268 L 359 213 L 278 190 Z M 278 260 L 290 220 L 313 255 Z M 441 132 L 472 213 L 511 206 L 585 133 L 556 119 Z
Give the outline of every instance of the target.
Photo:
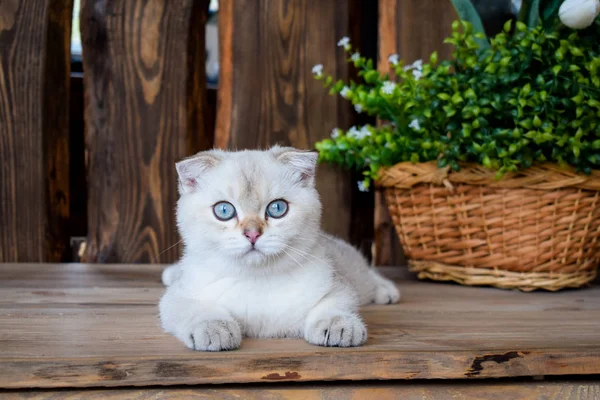
M 440 60 L 448 59 L 452 47 L 443 42 L 456 18 L 450 1 L 379 0 L 379 70 L 389 71 L 391 54 L 399 54 L 406 63 L 427 61 L 434 51 Z M 402 264 L 400 241 L 382 193 L 376 194 L 374 223 L 375 264 Z

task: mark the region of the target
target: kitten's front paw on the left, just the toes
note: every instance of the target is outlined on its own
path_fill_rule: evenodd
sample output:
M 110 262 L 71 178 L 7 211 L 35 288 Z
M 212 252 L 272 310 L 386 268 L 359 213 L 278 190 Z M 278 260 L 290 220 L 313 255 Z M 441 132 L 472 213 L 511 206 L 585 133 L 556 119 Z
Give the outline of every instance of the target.
M 242 343 L 242 332 L 235 321 L 201 321 L 192 327 L 186 345 L 198 351 L 235 350 Z

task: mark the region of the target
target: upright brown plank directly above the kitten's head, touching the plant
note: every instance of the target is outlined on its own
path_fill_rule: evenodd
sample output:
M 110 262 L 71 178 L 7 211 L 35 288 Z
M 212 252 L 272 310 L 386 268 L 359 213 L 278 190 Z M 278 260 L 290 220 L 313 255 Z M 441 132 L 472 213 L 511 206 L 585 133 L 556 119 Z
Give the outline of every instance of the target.
M 324 64 L 338 78 L 348 77 L 345 55 L 336 43 L 349 34 L 353 3 L 222 2 L 216 147 L 265 148 L 279 143 L 308 149 L 334 127 L 349 126 L 350 105 L 330 96 L 311 70 Z M 317 177 L 327 210 L 324 229 L 348 238 L 349 175 L 322 165 Z

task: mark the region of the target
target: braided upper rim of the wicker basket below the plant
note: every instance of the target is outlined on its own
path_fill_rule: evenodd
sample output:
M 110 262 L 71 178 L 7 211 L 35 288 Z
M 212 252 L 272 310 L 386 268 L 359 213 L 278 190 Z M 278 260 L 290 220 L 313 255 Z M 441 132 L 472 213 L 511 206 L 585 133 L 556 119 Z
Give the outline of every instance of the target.
M 380 170 L 375 184 L 379 188 L 410 189 L 418 184 L 485 185 L 496 188 L 527 188 L 555 190 L 578 188 L 600 191 L 600 170 L 590 175 L 575 172 L 575 168 L 561 167 L 558 164 L 536 164 L 523 171 L 507 173 L 496 180 L 496 171 L 479 164 L 465 163 L 461 170 L 452 171 L 449 167 L 438 168 L 436 161 L 425 163 L 402 162 Z

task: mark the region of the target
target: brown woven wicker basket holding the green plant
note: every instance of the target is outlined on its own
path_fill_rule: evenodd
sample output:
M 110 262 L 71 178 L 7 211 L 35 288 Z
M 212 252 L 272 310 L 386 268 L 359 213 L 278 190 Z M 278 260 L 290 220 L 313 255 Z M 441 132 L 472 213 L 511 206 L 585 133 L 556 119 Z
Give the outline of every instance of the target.
M 531 291 L 580 287 L 600 263 L 600 172 L 384 169 L 377 186 L 419 278 Z

